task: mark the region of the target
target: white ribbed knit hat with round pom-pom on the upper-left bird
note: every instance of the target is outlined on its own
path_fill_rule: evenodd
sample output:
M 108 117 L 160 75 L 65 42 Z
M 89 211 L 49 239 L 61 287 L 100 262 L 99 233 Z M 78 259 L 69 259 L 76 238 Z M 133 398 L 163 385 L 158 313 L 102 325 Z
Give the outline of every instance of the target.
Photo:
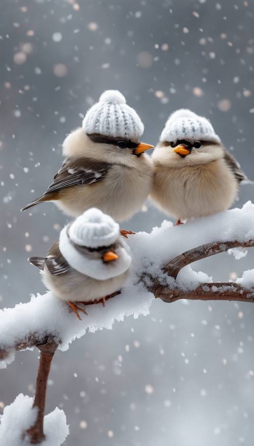
M 88 135 L 100 135 L 127 138 L 139 141 L 144 132 L 144 125 L 134 109 L 126 104 L 125 97 L 118 90 L 106 90 L 99 102 L 86 113 L 83 130 Z

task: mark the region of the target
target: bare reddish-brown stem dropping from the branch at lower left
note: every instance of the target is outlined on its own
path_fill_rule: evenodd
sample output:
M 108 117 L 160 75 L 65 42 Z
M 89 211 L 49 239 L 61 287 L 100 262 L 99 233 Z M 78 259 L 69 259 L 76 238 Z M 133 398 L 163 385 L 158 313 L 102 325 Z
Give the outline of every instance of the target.
M 41 443 L 45 438 L 43 431 L 43 420 L 45 411 L 47 381 L 48 381 L 51 361 L 57 349 L 57 344 L 56 343 L 45 344 L 38 346 L 38 348 L 41 354 L 40 354 L 40 362 L 36 380 L 35 400 L 33 404 L 33 407 L 38 408 L 38 413 L 35 424 L 31 428 L 29 428 L 26 432 L 31 444 Z

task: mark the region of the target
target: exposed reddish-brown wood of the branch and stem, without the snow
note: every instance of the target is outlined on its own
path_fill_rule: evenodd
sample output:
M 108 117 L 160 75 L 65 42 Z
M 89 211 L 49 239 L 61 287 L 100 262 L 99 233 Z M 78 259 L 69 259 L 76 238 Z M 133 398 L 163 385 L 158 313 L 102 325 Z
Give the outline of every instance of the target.
M 228 251 L 228 249 L 236 247 L 253 247 L 254 240 L 249 240 L 247 243 L 239 241 L 226 241 L 226 242 L 212 242 L 205 245 L 198 246 L 197 248 L 190 249 L 177 257 L 173 258 L 165 267 L 163 271 L 168 276 L 177 278 L 179 271 L 193 263 L 194 261 L 209 257 L 220 252 Z M 142 278 L 145 281 L 145 277 Z M 218 283 L 203 283 L 200 284 L 195 290 L 184 291 L 177 282 L 170 284 L 160 283 L 157 279 L 149 277 L 149 286 L 147 289 L 153 293 L 155 298 L 160 298 L 164 302 L 175 302 L 178 299 L 191 299 L 191 300 L 235 300 L 241 302 L 254 303 L 254 283 L 251 290 L 246 290 L 240 284 L 235 282 L 218 282 Z M 110 299 L 113 296 L 120 294 L 118 291 L 110 296 L 106 297 Z M 88 305 L 103 302 L 100 300 L 97 302 L 88 302 Z M 45 438 L 43 432 L 43 419 L 46 399 L 47 380 L 50 371 L 51 361 L 57 346 L 61 343 L 60 335 L 57 333 L 42 333 L 31 332 L 28 333 L 23 339 L 16 339 L 13 346 L 0 346 L 0 360 L 5 359 L 10 350 L 24 350 L 30 347 L 38 347 L 40 354 L 40 363 L 37 375 L 36 393 L 33 407 L 38 407 L 38 415 L 34 426 L 27 430 L 27 435 L 31 444 L 38 444 Z

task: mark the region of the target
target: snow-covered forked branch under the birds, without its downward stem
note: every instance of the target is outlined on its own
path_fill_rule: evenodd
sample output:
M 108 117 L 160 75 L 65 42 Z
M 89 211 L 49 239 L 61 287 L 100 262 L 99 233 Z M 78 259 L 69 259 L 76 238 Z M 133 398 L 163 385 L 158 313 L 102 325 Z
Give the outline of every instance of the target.
M 125 316 L 148 314 L 154 297 L 165 302 L 178 299 L 241 300 L 254 302 L 254 270 L 236 282 L 213 283 L 190 263 L 227 250 L 254 246 L 254 204 L 173 226 L 164 221 L 150 234 L 130 237 L 132 270 L 120 295 L 101 304 L 88 305 L 82 321 L 52 293 L 0 311 L 0 366 L 14 358 L 14 351 L 56 343 L 65 351 L 86 331 L 112 328 Z M 187 251 L 186 251 L 187 249 Z M 241 255 L 238 256 L 240 258 Z M 237 256 L 236 256 L 237 258 Z M 78 300 L 78 296 L 77 296 Z M 2 361 L 1 361 L 2 360 Z

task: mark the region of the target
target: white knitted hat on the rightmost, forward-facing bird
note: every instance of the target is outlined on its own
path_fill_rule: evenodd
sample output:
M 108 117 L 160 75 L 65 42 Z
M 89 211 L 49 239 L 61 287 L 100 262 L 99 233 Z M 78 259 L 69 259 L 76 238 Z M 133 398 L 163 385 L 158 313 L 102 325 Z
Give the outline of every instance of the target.
M 187 109 L 170 115 L 160 137 L 160 141 L 168 142 L 182 139 L 220 142 L 210 121 Z

